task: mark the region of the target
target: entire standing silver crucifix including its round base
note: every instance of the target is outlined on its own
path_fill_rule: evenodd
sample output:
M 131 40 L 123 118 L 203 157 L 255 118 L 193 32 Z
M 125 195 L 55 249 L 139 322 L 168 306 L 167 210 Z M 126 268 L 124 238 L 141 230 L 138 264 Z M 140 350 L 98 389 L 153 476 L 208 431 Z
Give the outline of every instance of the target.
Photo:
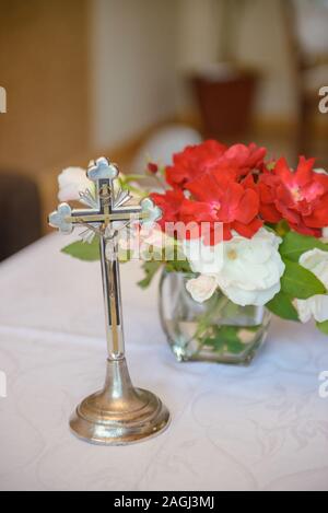
M 82 191 L 89 209 L 71 209 L 61 203 L 49 215 L 49 224 L 69 234 L 84 226 L 99 237 L 107 336 L 107 377 L 102 392 L 86 398 L 71 418 L 72 431 L 83 440 L 99 444 L 126 444 L 163 430 L 169 413 L 152 393 L 132 386 L 126 358 L 118 261 L 119 231 L 133 223 L 151 225 L 161 210 L 147 198 L 131 205 L 128 191 L 115 188 L 119 171 L 101 158 L 87 170 L 95 195 Z M 87 234 L 86 234 L 87 236 Z

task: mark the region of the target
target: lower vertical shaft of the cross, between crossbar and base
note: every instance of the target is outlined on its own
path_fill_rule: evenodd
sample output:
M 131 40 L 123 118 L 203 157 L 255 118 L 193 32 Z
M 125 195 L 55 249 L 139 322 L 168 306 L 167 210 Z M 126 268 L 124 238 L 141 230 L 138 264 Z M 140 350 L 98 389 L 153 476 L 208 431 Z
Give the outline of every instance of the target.
M 112 244 L 109 257 L 107 244 Z M 120 295 L 119 261 L 117 235 L 108 240 L 101 237 L 101 261 L 106 317 L 106 337 L 108 360 L 121 360 L 125 357 L 122 308 Z

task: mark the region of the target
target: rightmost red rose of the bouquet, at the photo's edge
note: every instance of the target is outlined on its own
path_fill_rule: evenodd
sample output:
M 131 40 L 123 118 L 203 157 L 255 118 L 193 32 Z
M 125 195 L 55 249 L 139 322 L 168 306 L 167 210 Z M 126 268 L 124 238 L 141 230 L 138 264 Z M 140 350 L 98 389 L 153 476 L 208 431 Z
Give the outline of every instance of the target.
M 314 171 L 315 160 L 300 159 L 296 171 L 280 159 L 259 179 L 260 213 L 267 222 L 284 219 L 305 235 L 321 236 L 328 225 L 328 175 Z

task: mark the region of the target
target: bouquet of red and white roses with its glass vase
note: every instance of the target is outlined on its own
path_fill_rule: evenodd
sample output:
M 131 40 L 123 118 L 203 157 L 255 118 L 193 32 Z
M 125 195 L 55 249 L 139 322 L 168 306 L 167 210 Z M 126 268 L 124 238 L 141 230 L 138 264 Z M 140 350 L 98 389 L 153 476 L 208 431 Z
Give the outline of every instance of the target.
M 328 335 L 328 174 L 314 159 L 302 156 L 293 170 L 266 155 L 256 144 L 210 140 L 168 167 L 148 165 L 163 217 L 150 231 L 132 226 L 121 260 L 143 260 L 142 288 L 162 271 L 162 325 L 179 360 L 248 363 L 271 314 L 314 318 Z M 122 177 L 121 187 L 136 189 L 137 178 Z M 62 200 L 90 188 L 78 170 L 59 183 Z M 86 238 L 63 252 L 96 259 L 97 244 Z

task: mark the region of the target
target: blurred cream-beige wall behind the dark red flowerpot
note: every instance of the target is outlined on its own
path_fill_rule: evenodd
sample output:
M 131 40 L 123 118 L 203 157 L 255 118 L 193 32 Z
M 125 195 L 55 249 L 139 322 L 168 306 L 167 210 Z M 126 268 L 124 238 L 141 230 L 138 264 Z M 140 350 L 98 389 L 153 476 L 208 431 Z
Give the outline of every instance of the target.
M 247 3 L 235 50 L 261 73 L 256 117 L 290 123 L 296 95 L 281 2 Z M 95 143 L 195 114 L 186 78 L 220 56 L 220 0 L 93 0 L 91 13 Z

